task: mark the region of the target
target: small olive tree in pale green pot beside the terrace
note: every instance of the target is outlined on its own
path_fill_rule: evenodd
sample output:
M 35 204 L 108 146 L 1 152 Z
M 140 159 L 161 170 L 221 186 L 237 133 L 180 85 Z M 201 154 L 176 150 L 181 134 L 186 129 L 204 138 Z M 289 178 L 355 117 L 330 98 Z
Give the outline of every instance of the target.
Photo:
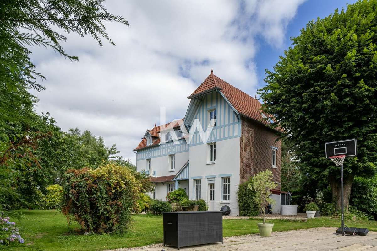
M 266 208 L 269 204 L 273 207 L 276 201 L 270 198 L 271 190 L 275 189 L 277 184 L 272 181 L 271 170 L 265 170 L 259 172 L 251 178 L 251 183 L 248 185 L 248 189 L 252 189 L 255 192 L 254 200 L 259 207 L 259 211 L 262 212 L 263 223 L 257 223 L 260 236 L 271 236 L 273 223 L 266 223 Z M 272 209 L 271 209 L 272 212 Z

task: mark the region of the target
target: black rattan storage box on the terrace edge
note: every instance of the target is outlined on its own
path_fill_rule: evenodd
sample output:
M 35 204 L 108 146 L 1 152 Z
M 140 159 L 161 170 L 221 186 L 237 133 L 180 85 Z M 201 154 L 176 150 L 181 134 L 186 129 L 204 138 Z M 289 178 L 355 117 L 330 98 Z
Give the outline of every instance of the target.
M 189 211 L 164 215 L 164 246 L 193 246 L 222 242 L 222 212 Z

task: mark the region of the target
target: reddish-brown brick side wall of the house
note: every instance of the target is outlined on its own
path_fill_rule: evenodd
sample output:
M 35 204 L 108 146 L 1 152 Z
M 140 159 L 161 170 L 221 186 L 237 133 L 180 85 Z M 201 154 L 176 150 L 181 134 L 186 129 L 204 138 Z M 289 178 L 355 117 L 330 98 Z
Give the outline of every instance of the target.
M 276 141 L 274 131 L 264 125 L 242 117 L 241 139 L 240 139 L 240 184 L 247 181 L 250 176 L 270 169 L 273 173 L 273 180 L 278 183 L 276 189 L 280 190 L 281 166 L 282 166 L 282 144 Z M 271 167 L 272 150 L 271 146 L 278 148 L 276 151 L 276 168 Z

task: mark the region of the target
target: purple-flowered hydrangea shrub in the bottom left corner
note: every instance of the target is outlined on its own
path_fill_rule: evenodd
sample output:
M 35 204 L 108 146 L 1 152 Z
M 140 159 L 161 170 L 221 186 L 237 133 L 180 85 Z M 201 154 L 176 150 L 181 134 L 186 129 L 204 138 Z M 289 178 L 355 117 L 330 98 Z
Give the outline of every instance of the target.
M 22 239 L 18 228 L 15 227 L 15 222 L 10 222 L 9 217 L 0 217 L 0 244 L 1 245 L 12 245 L 16 243 L 24 243 L 25 240 Z

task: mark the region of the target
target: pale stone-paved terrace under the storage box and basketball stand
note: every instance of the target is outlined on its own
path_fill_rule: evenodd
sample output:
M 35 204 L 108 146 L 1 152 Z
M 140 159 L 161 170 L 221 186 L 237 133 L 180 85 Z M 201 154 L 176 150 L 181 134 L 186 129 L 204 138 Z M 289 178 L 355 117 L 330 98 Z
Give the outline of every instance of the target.
M 367 236 L 338 236 L 334 235 L 336 228 L 311 228 L 307 230 L 292 230 L 273 232 L 271 237 L 261 237 L 257 234 L 247 236 L 233 236 L 224 238 L 224 244 L 215 243 L 182 247 L 184 251 L 232 251 L 232 250 L 305 250 L 305 251 L 377 251 L 377 232 L 369 232 Z M 134 251 L 176 251 L 178 248 L 170 246 L 145 246 L 132 248 Z M 130 248 L 115 249 L 126 251 Z

